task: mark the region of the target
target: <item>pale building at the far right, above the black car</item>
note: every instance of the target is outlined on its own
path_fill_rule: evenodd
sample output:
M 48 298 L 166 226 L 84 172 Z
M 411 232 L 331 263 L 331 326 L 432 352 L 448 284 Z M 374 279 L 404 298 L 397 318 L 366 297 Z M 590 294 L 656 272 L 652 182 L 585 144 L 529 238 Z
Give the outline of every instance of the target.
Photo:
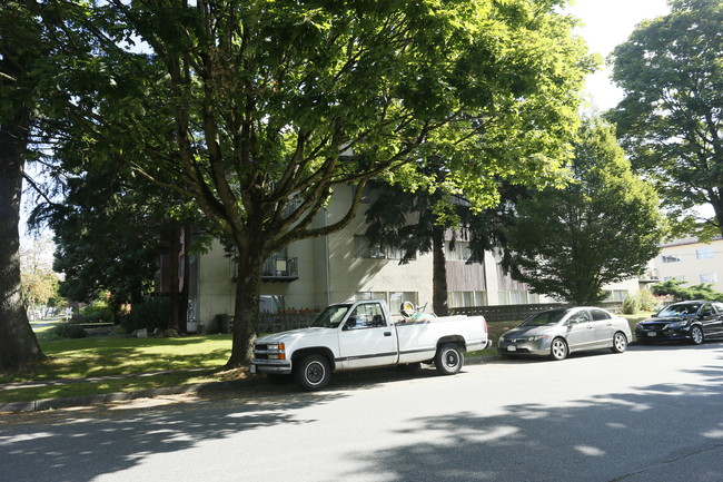
M 661 246 L 653 266 L 662 282 L 710 283 L 714 291 L 723 292 L 723 238 L 716 237 L 711 243 L 701 243 L 696 238 L 668 243 Z

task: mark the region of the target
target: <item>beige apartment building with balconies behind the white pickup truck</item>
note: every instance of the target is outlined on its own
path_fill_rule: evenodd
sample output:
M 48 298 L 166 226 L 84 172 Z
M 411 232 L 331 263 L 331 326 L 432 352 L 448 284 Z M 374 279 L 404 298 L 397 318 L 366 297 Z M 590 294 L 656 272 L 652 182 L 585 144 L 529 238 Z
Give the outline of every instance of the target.
M 336 188 L 334 199 L 323 210 L 316 225 L 324 226 L 340 218 L 351 201 L 354 188 Z M 404 301 L 432 311 L 433 257 L 418 254 L 416 259 L 399 265 L 400 253 L 383 250 L 365 237 L 366 204 L 345 229 L 321 238 L 291 244 L 269 258 L 264 268 L 261 312 L 318 311 L 330 303 L 348 299 L 386 299 L 398 313 Z M 447 244 L 446 268 L 450 308 L 513 304 L 552 303 L 554 299 L 529 293 L 526 285 L 513 281 L 499 267 L 492 253 L 482 264 L 466 264 L 468 244 Z M 236 266 L 216 242 L 211 250 L 190 258 L 192 278 L 189 292 L 189 318 L 209 324 L 219 314 L 234 312 Z M 637 281 L 611 287 L 611 299 L 622 301 L 636 293 Z

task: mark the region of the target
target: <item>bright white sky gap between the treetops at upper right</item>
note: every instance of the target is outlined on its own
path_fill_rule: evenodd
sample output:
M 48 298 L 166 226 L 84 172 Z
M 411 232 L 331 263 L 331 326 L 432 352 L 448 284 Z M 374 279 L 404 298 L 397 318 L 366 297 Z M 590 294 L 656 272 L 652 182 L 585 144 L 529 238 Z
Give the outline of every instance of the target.
M 587 41 L 590 50 L 607 58 L 627 40 L 637 23 L 670 9 L 665 0 L 577 0 L 566 11 L 584 23 L 576 33 Z M 592 107 L 598 111 L 615 107 L 622 99 L 622 92 L 610 80 L 611 73 L 611 68 L 605 67 L 587 78 L 586 90 Z

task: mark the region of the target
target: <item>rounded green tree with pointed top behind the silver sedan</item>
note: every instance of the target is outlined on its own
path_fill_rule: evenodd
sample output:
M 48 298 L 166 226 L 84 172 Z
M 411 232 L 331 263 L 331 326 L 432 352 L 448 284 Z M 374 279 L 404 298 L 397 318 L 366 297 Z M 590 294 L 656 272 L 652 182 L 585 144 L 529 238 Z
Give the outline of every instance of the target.
M 613 127 L 586 120 L 570 169 L 565 188 L 517 203 L 507 232 L 511 270 L 535 293 L 595 304 L 604 285 L 637 276 L 657 254 L 664 223 L 657 195 L 632 173 Z

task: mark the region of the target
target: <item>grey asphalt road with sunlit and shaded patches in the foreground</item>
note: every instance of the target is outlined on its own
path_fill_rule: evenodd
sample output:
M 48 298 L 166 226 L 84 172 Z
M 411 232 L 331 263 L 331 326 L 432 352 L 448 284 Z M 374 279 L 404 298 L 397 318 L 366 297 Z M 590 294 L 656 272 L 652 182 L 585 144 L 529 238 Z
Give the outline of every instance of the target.
M 2 481 L 723 481 L 723 343 L 4 415 Z

